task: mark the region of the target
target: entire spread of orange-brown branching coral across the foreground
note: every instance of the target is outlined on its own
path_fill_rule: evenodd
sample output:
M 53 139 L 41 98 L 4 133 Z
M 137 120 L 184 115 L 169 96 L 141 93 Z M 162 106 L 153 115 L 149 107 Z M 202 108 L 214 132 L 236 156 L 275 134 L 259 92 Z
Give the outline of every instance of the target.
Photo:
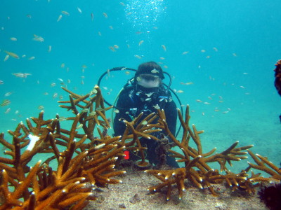
M 253 193 L 255 183 L 281 180 L 281 170 L 267 158 L 251 153 L 249 151 L 251 146 L 236 148 L 238 142 L 235 142 L 222 153 L 214 154 L 215 148 L 209 153 L 203 153 L 199 137 L 202 132 L 197 131 L 194 125 L 192 128 L 189 126 L 188 106 L 185 119 L 178 111 L 183 127 L 181 141 L 171 134 L 166 125 L 164 112 L 160 110 L 143 120 L 140 120 L 141 115 L 132 122 L 124 120 L 126 124 L 124 135 L 110 137 L 107 135 L 110 123 L 105 112 L 112 107 L 105 108 L 100 88 L 96 86 L 84 96 L 63 89 L 70 93 L 70 100 L 60 102 L 69 105 L 60 106 L 71 110 L 74 117 L 61 118 L 57 115 L 55 119 L 44 120 L 44 113 L 41 112 L 39 118 L 31 118 L 33 123 L 27 119 L 27 126 L 20 123 L 15 131 L 8 131 L 13 137 L 12 144 L 4 139 L 3 133 L 0 134 L 0 143 L 8 149 L 4 154 L 10 157 L 0 157 L 0 209 L 83 209 L 89 200 L 95 200 L 91 195 L 93 188 L 121 182 L 112 177 L 124 174 L 124 171 L 114 168 L 124 158 L 124 149 L 140 153 L 141 161 L 137 163 L 138 166 L 148 165 L 144 155 L 146 148 L 141 145 L 140 139 L 145 137 L 151 141 L 159 141 L 152 134 L 161 130 L 164 130 L 174 144 L 181 148 L 182 153 L 170 151 L 178 158 L 178 162 L 185 164 L 185 167 L 178 169 L 145 171 L 162 181 L 149 190 L 156 192 L 166 186 L 167 200 L 174 184 L 178 186 L 179 197 L 183 196 L 185 179 L 198 188 L 209 188 L 213 195 L 217 193 L 212 186 L 223 181 L 226 181 L 233 190 L 240 188 Z M 158 118 L 158 122 L 151 124 L 155 118 Z M 64 120 L 72 121 L 70 130 L 61 127 Z M 94 131 L 98 131 L 99 137 L 94 137 Z M 190 140 L 195 142 L 197 148 L 189 146 Z M 49 153 L 50 158 L 30 167 L 30 161 L 36 159 L 39 153 Z M 226 162 L 231 165 L 232 161 L 247 158 L 244 156 L 247 153 L 256 164 L 249 163 L 249 167 L 240 174 L 229 172 Z M 56 170 L 51 167 L 53 162 L 58 163 Z M 211 169 L 209 162 L 218 162 L 221 171 L 226 174 Z M 247 172 L 251 168 L 270 174 L 270 178 L 263 178 L 253 172 L 249 176 Z M 86 183 L 91 183 L 91 186 L 86 186 Z

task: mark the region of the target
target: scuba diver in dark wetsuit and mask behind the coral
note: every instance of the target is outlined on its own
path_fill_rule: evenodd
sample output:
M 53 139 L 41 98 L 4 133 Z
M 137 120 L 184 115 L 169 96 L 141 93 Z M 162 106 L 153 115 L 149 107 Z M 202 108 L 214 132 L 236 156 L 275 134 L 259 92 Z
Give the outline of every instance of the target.
M 120 118 L 131 122 L 133 118 L 136 118 L 143 112 L 141 118 L 143 120 L 148 114 L 152 112 L 157 113 L 157 109 L 164 109 L 166 123 L 171 133 L 175 136 L 177 120 L 176 104 L 171 97 L 169 88 L 166 89 L 164 83 L 162 83 L 164 79 L 163 72 L 161 66 L 156 62 L 145 62 L 138 66 L 131 85 L 124 87 L 117 100 L 116 107 L 119 112 L 116 113 L 114 119 L 115 136 L 124 134 L 124 130 L 126 129 L 126 125 L 122 120 L 119 120 Z M 157 119 L 154 123 L 156 122 Z M 158 139 L 163 137 L 163 134 L 159 132 L 153 135 Z M 150 164 L 157 165 L 159 162 L 157 158 L 157 146 L 159 148 L 159 143 L 153 139 L 142 138 L 141 144 L 148 148 L 145 159 L 149 160 Z M 129 160 L 140 159 L 137 154 L 131 152 L 129 157 Z M 176 159 L 168 155 L 166 155 L 166 165 L 178 167 Z

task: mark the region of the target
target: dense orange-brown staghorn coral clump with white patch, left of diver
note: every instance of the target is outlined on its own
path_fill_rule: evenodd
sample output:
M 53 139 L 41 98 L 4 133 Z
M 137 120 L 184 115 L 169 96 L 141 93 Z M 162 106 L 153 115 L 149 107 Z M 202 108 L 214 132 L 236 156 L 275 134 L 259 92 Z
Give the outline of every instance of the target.
M 97 89 L 83 109 L 91 110 L 92 103 L 96 109 L 103 107 Z M 77 110 L 78 103 L 85 99 L 79 97 L 74 101 L 70 97 L 71 109 Z M 13 144 L 0 134 L 0 143 L 9 149 L 5 154 L 11 157 L 0 158 L 3 201 L 0 209 L 83 209 L 89 200 L 95 200 L 91 195 L 95 186 L 121 182 L 112 179 L 112 176 L 124 174 L 124 171 L 114 169 L 118 157 L 123 156 L 124 146 L 117 147 L 120 137 L 93 137 L 96 124 L 109 125 L 106 118 L 97 120 L 97 116 L 103 118 L 103 111 L 97 111 L 97 116 L 91 119 L 85 118 L 83 111 L 74 113 L 74 118 L 63 119 L 73 120 L 71 130 L 61 128 L 62 118 L 58 115 L 55 119 L 44 120 L 42 111 L 39 118 L 31 118 L 35 125 L 27 119 L 27 127 L 20 123 L 15 131 L 8 131 Z M 78 134 L 79 123 L 85 134 Z M 90 143 L 84 143 L 86 139 L 90 139 Z M 50 153 L 51 157 L 29 167 L 39 153 Z M 53 161 L 58 163 L 56 170 L 50 166 Z M 86 187 L 86 183 L 91 186 Z

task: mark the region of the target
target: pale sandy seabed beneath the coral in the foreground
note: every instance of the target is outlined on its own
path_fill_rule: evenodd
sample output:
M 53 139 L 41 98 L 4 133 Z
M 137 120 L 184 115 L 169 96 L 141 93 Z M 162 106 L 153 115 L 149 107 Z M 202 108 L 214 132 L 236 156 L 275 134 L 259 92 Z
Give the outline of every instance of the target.
M 256 188 L 254 195 L 249 195 L 242 190 L 232 192 L 223 184 L 215 185 L 219 196 L 214 197 L 208 189 L 200 190 L 185 181 L 186 190 L 182 199 L 178 199 L 175 185 L 170 200 L 166 201 L 166 188 L 154 194 L 148 192 L 150 186 L 159 183 L 151 174 L 129 170 L 117 179 L 123 183 L 93 190 L 98 199 L 85 209 L 267 209 L 257 195 L 259 188 Z

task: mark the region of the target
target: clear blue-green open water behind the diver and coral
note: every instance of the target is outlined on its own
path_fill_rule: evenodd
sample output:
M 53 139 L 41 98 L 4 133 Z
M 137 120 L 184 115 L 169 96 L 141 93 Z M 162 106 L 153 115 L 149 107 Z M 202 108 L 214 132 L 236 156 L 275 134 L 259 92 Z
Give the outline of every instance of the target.
M 9 99 L 11 104 L 0 107 L 0 130 L 6 133 L 38 116 L 39 106 L 46 119 L 56 113 L 72 116 L 58 107 L 59 97 L 68 97 L 58 78 L 86 94 L 107 69 L 136 69 L 153 60 L 173 77 L 171 88 L 181 90 L 181 104 L 190 104 L 191 123 L 205 131 L 204 151 L 216 146 L 221 152 L 240 141 L 240 146 L 254 144 L 254 153 L 279 166 L 281 97 L 273 85 L 274 64 L 281 59 L 279 6 L 276 0 L 2 0 L 0 102 Z M 34 34 L 44 41 L 34 41 Z M 109 48 L 114 45 L 119 47 L 115 52 Z M 4 61 L 4 50 L 20 58 Z M 32 75 L 16 78 L 12 73 Z M 122 71 L 105 78 L 105 99 L 113 102 L 132 76 Z M 241 169 L 247 163 L 236 165 Z

